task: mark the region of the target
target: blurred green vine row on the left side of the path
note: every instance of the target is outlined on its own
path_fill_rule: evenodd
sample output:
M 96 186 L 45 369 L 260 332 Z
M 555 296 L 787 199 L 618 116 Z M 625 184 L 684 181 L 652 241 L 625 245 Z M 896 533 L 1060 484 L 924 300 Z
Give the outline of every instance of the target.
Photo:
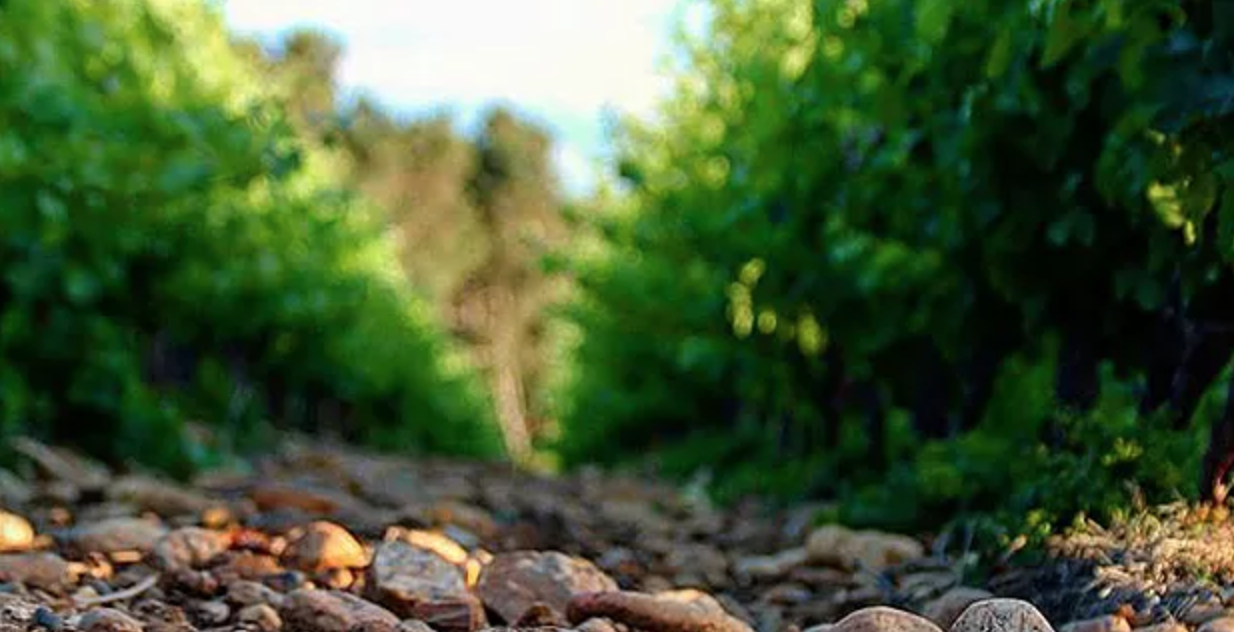
M 2 2 L 0 77 L 5 434 L 179 472 L 200 454 L 186 417 L 237 442 L 269 420 L 500 451 L 384 217 L 291 132 L 212 10 Z M 193 376 L 152 384 L 155 339 Z M 304 412 L 329 401 L 347 414 Z

